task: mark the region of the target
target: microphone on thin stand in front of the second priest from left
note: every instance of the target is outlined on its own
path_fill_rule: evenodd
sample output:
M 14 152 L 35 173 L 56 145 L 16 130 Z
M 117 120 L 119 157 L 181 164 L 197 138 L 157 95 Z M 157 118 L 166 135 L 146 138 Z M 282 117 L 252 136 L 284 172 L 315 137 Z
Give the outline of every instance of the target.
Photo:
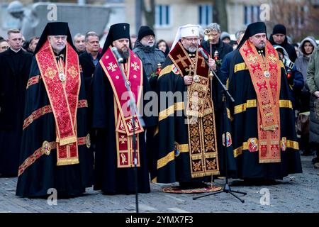
M 121 74 L 122 77 L 125 81 L 125 87 L 128 90 L 128 95 L 130 97 L 130 100 L 128 101 L 129 106 L 130 106 L 130 112 L 132 114 L 132 124 L 133 124 L 133 150 L 134 150 L 134 178 L 135 178 L 135 204 L 136 204 L 136 213 L 138 212 L 138 155 L 136 153 L 136 135 L 135 135 L 135 114 L 138 114 L 138 108 L 135 104 L 135 98 L 133 96 L 133 93 L 130 89 L 130 82 L 128 81 L 128 79 L 125 77 L 125 74 L 123 72 L 123 69 L 121 67 L 121 63 L 123 63 L 123 59 L 121 58 L 120 60 L 118 60 L 118 58 L 116 57 L 116 61 L 118 62 L 118 66 L 121 70 Z M 140 118 L 139 118 L 140 119 Z M 144 126 L 144 123 L 142 121 L 142 119 L 140 119 L 140 123 L 142 124 L 142 126 Z

